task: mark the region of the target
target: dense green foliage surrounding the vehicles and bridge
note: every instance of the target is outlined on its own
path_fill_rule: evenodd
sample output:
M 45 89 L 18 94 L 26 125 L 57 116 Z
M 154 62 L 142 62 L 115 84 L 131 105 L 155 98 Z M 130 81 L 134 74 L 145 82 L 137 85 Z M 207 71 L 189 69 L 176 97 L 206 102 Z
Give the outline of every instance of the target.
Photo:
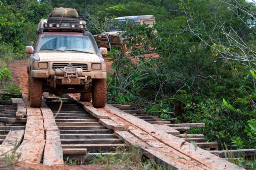
M 220 148 L 256 147 L 254 3 L 0 0 L 0 69 L 11 57 L 23 57 L 24 47 L 36 37 L 36 23 L 58 6 L 76 8 L 92 33 L 106 30 L 106 18 L 156 16 L 154 28 L 120 26 L 126 45 L 142 48 L 132 48 L 130 57 L 115 48 L 108 54 L 114 69 L 108 76 L 111 100 L 161 112 L 163 118 L 175 112 L 178 122 L 204 122 L 206 128 L 192 131 L 206 134 Z

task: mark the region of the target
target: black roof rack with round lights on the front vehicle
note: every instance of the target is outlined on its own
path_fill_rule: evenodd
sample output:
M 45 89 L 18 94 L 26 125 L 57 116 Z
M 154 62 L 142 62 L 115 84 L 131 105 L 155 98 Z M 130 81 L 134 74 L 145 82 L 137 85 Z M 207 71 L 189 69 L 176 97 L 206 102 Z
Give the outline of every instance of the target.
M 86 30 L 86 22 L 80 21 L 79 24 L 72 23 L 47 23 L 47 19 L 41 19 L 38 23 L 37 33 L 49 31 L 62 32 L 84 32 Z

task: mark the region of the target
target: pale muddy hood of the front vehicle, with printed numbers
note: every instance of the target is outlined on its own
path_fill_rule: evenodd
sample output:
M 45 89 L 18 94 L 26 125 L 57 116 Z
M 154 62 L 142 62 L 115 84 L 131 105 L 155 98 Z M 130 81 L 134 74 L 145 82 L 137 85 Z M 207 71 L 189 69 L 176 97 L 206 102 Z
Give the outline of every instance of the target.
M 40 52 L 37 54 L 40 61 L 100 62 L 100 57 L 96 54 L 76 52 Z

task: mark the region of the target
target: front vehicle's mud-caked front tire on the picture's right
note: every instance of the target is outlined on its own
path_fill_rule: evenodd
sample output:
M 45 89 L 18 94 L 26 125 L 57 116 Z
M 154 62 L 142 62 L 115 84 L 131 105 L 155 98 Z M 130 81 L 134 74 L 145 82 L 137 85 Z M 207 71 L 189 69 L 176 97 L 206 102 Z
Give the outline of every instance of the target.
M 92 106 L 94 108 L 104 108 L 107 101 L 106 79 L 93 80 Z

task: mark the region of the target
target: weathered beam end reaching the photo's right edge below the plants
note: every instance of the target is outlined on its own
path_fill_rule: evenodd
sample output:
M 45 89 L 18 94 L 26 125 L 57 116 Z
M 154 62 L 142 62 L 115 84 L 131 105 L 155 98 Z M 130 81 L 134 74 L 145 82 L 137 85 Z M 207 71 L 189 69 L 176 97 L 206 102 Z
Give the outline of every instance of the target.
M 256 149 L 209 150 L 208 152 L 220 156 L 221 158 L 227 158 L 230 156 L 256 156 Z

